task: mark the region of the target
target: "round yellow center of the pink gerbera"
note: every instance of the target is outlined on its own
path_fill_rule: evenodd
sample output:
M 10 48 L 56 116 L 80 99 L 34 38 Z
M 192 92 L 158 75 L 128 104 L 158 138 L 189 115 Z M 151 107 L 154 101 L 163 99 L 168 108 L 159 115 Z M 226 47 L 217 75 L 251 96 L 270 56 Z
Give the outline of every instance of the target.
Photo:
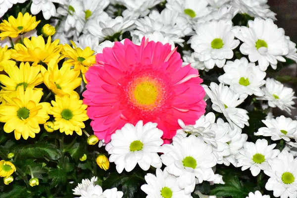
M 138 84 L 134 90 L 134 98 L 140 103 L 149 105 L 157 99 L 157 88 L 150 82 Z

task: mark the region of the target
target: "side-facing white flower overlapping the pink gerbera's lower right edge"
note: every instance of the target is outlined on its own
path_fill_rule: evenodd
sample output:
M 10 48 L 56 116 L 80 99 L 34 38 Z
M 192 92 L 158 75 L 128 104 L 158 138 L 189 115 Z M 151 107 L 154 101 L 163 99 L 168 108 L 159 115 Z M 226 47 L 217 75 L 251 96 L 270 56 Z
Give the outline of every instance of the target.
M 215 122 L 215 115 L 212 112 L 202 115 L 195 123 L 195 125 L 185 125 L 185 123 L 178 119 L 178 124 L 182 129 L 177 130 L 177 134 L 186 137 L 188 134 L 200 137 L 207 144 L 217 147 L 215 140 L 215 132 L 211 129 L 211 125 Z

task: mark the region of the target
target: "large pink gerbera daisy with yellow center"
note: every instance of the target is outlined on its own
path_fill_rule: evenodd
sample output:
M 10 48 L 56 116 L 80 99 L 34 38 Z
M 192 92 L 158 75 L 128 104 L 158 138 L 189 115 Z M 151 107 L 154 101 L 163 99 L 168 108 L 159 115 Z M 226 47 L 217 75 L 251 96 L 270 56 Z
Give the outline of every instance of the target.
M 96 55 L 86 73 L 83 93 L 95 135 L 104 142 L 126 123 L 155 122 L 168 143 L 180 129 L 177 122 L 195 124 L 205 113 L 204 89 L 198 70 L 182 67 L 182 59 L 169 44 L 126 39 Z

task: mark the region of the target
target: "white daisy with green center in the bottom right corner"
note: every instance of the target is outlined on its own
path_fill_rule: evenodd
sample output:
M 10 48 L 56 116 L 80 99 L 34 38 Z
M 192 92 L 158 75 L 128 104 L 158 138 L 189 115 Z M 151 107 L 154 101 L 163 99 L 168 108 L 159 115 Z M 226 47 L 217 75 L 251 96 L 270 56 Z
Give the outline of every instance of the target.
M 270 177 L 265 185 L 266 190 L 273 191 L 276 198 L 297 198 L 297 158 L 283 150 L 270 166 L 271 169 L 264 171 Z

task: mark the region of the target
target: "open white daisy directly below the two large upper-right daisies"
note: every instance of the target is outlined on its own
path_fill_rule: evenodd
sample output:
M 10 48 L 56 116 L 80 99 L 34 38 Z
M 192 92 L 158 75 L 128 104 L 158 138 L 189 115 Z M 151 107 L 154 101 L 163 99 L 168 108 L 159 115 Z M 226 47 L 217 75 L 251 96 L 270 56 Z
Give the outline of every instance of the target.
M 264 96 L 260 89 L 265 84 L 266 72 L 261 71 L 255 63 L 248 63 L 247 58 L 242 57 L 233 61 L 227 61 L 223 67 L 225 74 L 219 76 L 220 83 L 230 85 L 230 88 L 243 98 L 249 95 Z

